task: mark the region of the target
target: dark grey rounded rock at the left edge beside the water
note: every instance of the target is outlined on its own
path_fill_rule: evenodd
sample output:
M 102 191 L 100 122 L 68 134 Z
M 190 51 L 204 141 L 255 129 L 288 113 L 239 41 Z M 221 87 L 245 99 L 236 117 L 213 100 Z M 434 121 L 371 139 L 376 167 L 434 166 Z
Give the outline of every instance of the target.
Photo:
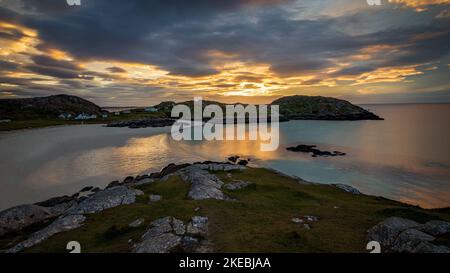
M 4 210 L 0 212 L 0 236 L 51 217 L 55 215 L 38 205 L 21 205 Z

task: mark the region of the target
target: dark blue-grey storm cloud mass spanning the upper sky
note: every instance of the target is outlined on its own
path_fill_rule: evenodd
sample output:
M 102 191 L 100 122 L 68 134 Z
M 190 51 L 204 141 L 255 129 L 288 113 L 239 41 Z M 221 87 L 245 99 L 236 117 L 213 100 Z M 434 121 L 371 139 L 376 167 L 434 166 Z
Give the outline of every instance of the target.
M 292 19 L 281 8 L 292 1 L 84 0 L 81 7 L 56 2 L 22 1 L 27 15 L 21 21 L 38 30 L 41 48 L 56 47 L 81 59 L 158 65 L 173 75 L 218 73 L 211 65 L 214 57 L 207 54 L 211 50 L 233 54 L 241 61 L 268 63 L 272 71 L 287 76 L 325 70 L 334 66 L 332 59 L 372 45 L 399 46 L 401 50 L 337 74 L 430 62 L 449 54 L 448 20 L 435 18 L 431 12 L 417 15 L 413 10 L 386 13 L 377 9 L 308 20 Z M 18 17 L 6 9 L 0 10 L 0 16 Z M 392 24 L 370 31 L 367 18 L 374 22 L 389 18 Z M 411 18 L 419 19 L 407 23 Z M 342 30 L 349 27 L 369 30 L 361 34 Z M 414 40 L 417 35 L 438 32 L 441 35 Z M 73 67 L 49 62 L 53 61 L 38 60 L 37 67 L 29 69 L 59 78 L 75 77 Z

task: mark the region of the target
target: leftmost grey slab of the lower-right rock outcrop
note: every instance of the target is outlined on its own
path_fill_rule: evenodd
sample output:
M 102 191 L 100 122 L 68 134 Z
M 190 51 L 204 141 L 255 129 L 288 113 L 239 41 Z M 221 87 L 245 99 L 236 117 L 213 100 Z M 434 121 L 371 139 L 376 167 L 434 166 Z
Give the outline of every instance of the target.
M 419 223 L 408 219 L 390 217 L 368 230 L 368 240 L 377 241 L 382 246 L 389 247 L 402 231 L 418 226 L 420 226 Z

